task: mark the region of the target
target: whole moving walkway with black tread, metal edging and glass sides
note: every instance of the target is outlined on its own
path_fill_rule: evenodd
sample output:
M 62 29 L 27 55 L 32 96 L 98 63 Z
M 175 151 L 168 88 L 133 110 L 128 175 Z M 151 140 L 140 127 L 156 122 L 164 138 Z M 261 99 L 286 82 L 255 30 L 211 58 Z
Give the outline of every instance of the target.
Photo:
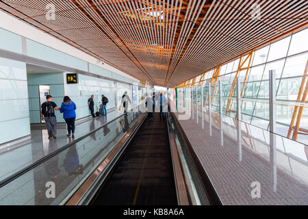
M 173 119 L 120 116 L 2 181 L 0 205 L 208 205 Z

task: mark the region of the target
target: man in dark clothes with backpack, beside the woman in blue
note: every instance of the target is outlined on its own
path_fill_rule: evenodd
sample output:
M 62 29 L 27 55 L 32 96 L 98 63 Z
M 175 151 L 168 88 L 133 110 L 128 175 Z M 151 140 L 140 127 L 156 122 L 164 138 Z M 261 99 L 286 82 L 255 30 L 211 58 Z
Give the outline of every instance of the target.
M 53 96 L 47 95 L 46 102 L 42 103 L 42 120 L 45 121 L 48 130 L 49 140 L 57 138 L 57 118 L 55 118 L 55 110 L 60 110 L 52 101 Z

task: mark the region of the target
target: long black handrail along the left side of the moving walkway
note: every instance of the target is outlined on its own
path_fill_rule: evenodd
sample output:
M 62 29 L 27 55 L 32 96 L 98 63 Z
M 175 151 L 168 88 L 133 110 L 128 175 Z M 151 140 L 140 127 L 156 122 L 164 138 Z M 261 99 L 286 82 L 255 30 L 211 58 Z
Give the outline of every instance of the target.
M 139 105 L 140 106 L 140 105 Z M 139 107 L 138 106 L 138 107 Z M 131 109 L 130 112 L 133 112 L 134 109 Z M 116 118 L 110 120 L 109 122 L 105 123 L 104 125 L 101 125 L 99 127 L 97 127 L 96 129 L 93 129 L 92 131 L 90 131 L 89 133 L 86 133 L 86 135 L 81 136 L 77 139 L 75 139 L 73 142 L 70 142 L 69 144 L 66 144 L 64 146 L 62 146 L 60 149 L 57 149 L 56 151 L 53 151 L 52 153 L 49 153 L 49 155 L 46 155 L 40 159 L 38 159 L 36 162 L 30 164 L 29 166 L 18 170 L 17 172 L 15 172 L 13 175 L 10 175 L 10 177 L 7 177 L 3 180 L 0 181 L 0 188 L 2 188 L 4 185 L 7 185 L 8 183 L 10 183 L 11 181 L 14 181 L 15 179 L 17 179 L 18 177 L 21 177 L 22 175 L 24 175 L 26 172 L 29 172 L 30 170 L 36 168 L 36 166 L 39 166 L 40 164 L 46 162 L 47 160 L 51 159 L 52 157 L 54 157 L 55 155 L 61 153 L 62 151 L 68 149 L 70 146 L 73 146 L 74 144 L 76 144 L 77 142 L 80 142 L 81 140 L 83 140 L 84 138 L 87 138 L 88 136 L 92 135 L 92 133 L 95 133 L 96 131 L 99 131 L 100 129 L 103 129 L 103 127 L 105 127 L 106 125 L 109 125 L 110 123 L 114 122 L 114 120 L 117 120 L 118 118 L 121 118 L 122 116 L 125 116 L 125 114 L 122 114 L 120 116 L 117 116 Z

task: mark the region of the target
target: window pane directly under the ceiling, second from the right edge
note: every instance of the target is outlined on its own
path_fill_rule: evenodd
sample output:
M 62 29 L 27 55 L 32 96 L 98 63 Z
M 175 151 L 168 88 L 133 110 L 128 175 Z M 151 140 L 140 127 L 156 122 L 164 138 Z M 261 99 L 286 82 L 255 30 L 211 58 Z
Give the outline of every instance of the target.
M 291 36 L 283 38 L 270 45 L 270 53 L 268 53 L 268 62 L 272 60 L 278 60 L 281 57 L 287 55 L 287 48 L 289 47 Z

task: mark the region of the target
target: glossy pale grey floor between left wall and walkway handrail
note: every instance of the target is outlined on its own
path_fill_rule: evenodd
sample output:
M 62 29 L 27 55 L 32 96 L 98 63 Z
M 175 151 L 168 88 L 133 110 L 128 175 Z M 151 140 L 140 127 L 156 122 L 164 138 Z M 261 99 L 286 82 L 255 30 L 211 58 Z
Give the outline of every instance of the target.
M 76 125 L 75 139 L 84 136 L 86 133 L 104 125 L 105 123 L 114 120 L 121 112 L 113 111 L 107 114 L 107 116 L 100 116 L 97 118 L 88 118 L 83 123 Z M 70 138 L 66 137 L 65 125 L 61 125 L 61 128 L 57 129 L 57 138 L 53 141 L 53 146 L 50 147 L 50 140 L 48 139 L 47 129 L 32 129 L 31 139 L 26 142 L 21 142 L 16 145 L 12 145 L 1 151 L 0 149 L 0 181 L 10 177 L 18 170 L 25 168 L 38 161 L 42 157 L 53 153 L 62 146 L 72 142 Z

